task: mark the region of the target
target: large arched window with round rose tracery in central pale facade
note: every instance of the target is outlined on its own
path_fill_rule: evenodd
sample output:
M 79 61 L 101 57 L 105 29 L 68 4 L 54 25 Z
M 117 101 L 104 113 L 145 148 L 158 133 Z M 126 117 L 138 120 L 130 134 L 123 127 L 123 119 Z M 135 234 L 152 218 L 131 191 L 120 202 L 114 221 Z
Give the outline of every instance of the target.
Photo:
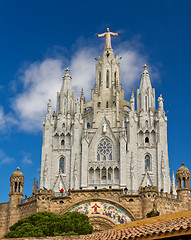
M 97 147 L 97 160 L 112 160 L 112 142 L 103 138 Z

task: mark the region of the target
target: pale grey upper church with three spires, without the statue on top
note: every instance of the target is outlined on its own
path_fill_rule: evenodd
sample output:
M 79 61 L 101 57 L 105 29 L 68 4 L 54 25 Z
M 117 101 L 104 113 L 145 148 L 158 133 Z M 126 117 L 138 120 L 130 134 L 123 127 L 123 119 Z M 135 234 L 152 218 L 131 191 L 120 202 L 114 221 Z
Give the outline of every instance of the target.
M 99 36 L 99 35 L 98 35 Z M 156 186 L 170 192 L 167 118 L 163 98 L 155 104 L 147 66 L 143 66 L 137 108 L 121 87 L 120 63 L 105 48 L 96 64 L 92 98 L 80 102 L 72 90 L 69 69 L 57 94 L 56 112 L 48 102 L 44 121 L 40 188 L 67 189 Z

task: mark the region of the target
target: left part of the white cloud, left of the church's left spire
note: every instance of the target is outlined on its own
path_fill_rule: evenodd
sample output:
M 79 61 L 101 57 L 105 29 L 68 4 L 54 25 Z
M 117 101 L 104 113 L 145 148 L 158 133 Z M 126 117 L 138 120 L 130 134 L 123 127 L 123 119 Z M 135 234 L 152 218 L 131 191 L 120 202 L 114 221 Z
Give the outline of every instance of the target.
M 21 80 L 23 91 L 16 96 L 13 109 L 20 120 L 19 127 L 25 131 L 42 129 L 42 115 L 45 114 L 48 99 L 56 103 L 63 75 L 60 59 L 45 59 L 31 64 Z

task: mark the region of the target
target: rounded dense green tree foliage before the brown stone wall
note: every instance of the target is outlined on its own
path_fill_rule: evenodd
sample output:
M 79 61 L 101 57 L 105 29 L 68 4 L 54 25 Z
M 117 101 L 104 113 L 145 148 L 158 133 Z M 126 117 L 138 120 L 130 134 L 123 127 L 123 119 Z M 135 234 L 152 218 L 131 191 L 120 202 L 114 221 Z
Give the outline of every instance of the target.
M 83 213 L 67 212 L 56 215 L 38 212 L 19 220 L 4 238 L 81 235 L 93 232 L 89 218 Z

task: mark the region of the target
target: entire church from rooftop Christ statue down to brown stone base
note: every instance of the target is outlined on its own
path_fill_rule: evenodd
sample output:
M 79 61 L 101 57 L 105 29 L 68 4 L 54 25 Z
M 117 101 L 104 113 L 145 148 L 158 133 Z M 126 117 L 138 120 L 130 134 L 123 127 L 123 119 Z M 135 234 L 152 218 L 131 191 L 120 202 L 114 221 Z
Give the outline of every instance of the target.
M 182 164 L 170 178 L 167 117 L 162 95 L 155 102 L 148 67 L 140 87 L 124 99 L 120 63 L 111 47 L 112 33 L 96 63 L 92 98 L 80 101 L 72 89 L 69 69 L 57 93 L 52 114 L 48 101 L 43 123 L 40 186 L 23 199 L 24 176 L 19 168 L 10 178 L 9 202 L 0 204 L 0 236 L 21 218 L 39 211 L 63 214 L 79 211 L 89 216 L 94 230 L 191 209 L 190 172 Z

